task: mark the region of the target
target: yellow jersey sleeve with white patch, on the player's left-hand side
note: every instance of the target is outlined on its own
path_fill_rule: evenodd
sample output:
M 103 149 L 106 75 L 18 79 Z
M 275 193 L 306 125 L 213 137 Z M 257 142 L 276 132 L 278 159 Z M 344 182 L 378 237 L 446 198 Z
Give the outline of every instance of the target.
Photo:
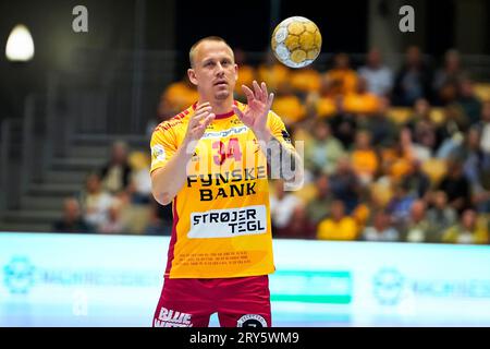
M 151 168 L 150 173 L 158 168 L 162 168 L 177 151 L 175 134 L 172 129 L 158 127 L 150 141 Z

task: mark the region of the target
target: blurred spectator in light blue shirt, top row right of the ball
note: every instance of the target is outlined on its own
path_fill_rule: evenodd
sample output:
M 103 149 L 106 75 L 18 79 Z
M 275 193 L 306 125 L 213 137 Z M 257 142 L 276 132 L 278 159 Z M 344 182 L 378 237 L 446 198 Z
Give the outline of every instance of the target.
M 373 47 L 369 50 L 366 65 L 357 71 L 359 76 L 366 79 L 367 89 L 378 97 L 388 97 L 393 88 L 393 72 L 383 64 L 381 52 Z

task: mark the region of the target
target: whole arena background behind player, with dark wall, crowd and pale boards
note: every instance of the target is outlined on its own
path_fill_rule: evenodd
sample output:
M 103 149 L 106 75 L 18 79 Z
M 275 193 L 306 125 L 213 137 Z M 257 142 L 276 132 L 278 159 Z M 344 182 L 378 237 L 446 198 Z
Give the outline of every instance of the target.
M 292 15 L 322 34 L 299 70 L 269 51 Z M 196 100 L 208 35 L 305 142 L 304 186 L 270 185 L 273 325 L 489 326 L 489 20 L 486 0 L 0 0 L 0 326 L 151 325 L 172 213 L 149 137 Z M 34 56 L 13 61 L 19 24 Z

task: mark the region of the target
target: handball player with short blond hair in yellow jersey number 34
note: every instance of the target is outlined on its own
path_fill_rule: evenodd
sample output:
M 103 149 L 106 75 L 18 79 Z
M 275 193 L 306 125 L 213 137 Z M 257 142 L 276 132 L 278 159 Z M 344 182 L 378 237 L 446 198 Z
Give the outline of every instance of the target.
M 200 39 L 189 61 L 199 98 L 160 123 L 150 144 L 152 194 L 173 205 L 152 325 L 204 327 L 218 313 L 221 326 L 271 326 L 268 166 L 292 182 L 302 178 L 301 158 L 265 83 L 243 86 L 246 105 L 233 99 L 238 67 L 224 39 Z

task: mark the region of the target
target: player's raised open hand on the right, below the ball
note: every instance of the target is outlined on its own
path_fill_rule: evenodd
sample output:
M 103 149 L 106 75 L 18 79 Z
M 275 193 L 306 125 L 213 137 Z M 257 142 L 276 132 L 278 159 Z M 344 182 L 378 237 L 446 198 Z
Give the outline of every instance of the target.
M 261 83 L 261 86 L 254 80 L 254 91 L 245 85 L 242 85 L 242 89 L 247 97 L 247 106 L 245 110 L 240 110 L 236 106 L 233 106 L 233 111 L 242 120 L 242 122 L 252 129 L 257 136 L 267 134 L 267 116 L 274 94 L 268 94 L 266 83 Z

